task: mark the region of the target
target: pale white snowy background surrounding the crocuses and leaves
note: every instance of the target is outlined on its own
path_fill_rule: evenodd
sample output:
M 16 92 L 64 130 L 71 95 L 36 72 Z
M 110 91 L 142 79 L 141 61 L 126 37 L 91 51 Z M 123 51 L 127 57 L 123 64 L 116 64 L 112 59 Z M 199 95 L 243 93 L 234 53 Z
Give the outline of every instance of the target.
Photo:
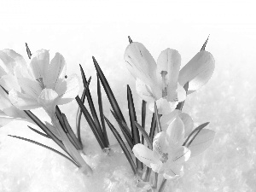
M 60 52 L 67 61 L 67 75 L 80 74 L 81 64 L 87 78 L 92 76 L 90 90 L 96 102 L 96 71 L 91 59 L 94 55 L 127 120 L 127 84 L 131 86 L 138 117 L 142 103 L 135 91 L 135 80 L 125 68 L 127 36 L 143 43 L 155 60 L 163 49 L 177 49 L 183 66 L 210 34 L 207 51 L 215 58 L 215 71 L 207 86 L 189 95 L 183 111 L 189 113 L 195 125 L 211 122 L 208 128 L 217 134 L 212 146 L 189 160 L 184 177 L 168 183 L 166 191 L 256 191 L 253 1 L 1 0 L 0 8 L 0 49 L 14 49 L 27 62 L 25 43 L 32 52 L 49 49 L 52 57 Z M 103 100 L 105 115 L 113 121 L 107 96 L 103 95 Z M 74 128 L 76 103 L 61 109 Z M 40 110 L 35 113 L 48 119 Z M 147 125 L 151 115 L 148 111 Z M 116 176 L 112 183 L 104 177 L 97 180 L 104 183 L 98 189 L 90 184 L 88 187 L 86 178 L 73 172 L 73 165 L 63 158 L 32 143 L 7 137 L 29 137 L 55 147 L 26 125 L 15 121 L 0 128 L 0 191 L 133 191 L 122 189 Z M 87 124 L 83 125 L 84 146 L 87 153 L 93 154 L 100 148 Z M 110 143 L 117 143 L 108 133 Z

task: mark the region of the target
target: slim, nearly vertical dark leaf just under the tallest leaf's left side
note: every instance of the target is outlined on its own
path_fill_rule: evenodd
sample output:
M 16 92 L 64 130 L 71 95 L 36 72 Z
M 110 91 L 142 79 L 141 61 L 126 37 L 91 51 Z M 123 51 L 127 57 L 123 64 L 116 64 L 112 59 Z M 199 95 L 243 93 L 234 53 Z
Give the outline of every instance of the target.
M 103 132 L 103 137 L 106 146 L 109 147 L 109 141 L 108 141 L 108 134 L 106 130 L 106 125 L 105 125 L 105 120 L 104 120 L 104 113 L 103 113 L 103 105 L 102 105 L 102 90 L 101 90 L 101 82 L 99 75 L 97 74 L 97 95 L 98 95 L 98 104 L 99 104 L 99 112 L 100 112 L 100 117 L 101 117 L 101 123 L 102 123 L 102 132 Z

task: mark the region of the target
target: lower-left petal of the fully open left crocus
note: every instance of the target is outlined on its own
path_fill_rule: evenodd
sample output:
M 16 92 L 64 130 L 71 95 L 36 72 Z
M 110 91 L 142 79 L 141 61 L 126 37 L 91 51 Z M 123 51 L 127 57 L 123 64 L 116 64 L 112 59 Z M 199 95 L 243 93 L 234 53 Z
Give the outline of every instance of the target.
M 19 108 L 20 110 L 30 110 L 40 107 L 35 98 L 20 93 L 16 90 L 9 91 L 9 100 L 13 105 L 15 105 L 16 108 Z

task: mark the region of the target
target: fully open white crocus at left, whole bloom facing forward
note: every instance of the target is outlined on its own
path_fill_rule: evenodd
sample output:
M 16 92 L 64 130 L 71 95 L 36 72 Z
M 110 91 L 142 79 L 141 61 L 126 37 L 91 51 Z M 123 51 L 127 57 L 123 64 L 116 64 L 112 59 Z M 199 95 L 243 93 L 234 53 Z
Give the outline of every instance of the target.
M 49 63 L 49 50 L 38 50 L 29 67 L 15 66 L 14 74 L 21 91 L 10 90 L 9 100 L 20 110 L 43 107 L 55 111 L 56 105 L 71 102 L 79 93 L 77 75 L 65 78 L 66 61 L 60 53 Z

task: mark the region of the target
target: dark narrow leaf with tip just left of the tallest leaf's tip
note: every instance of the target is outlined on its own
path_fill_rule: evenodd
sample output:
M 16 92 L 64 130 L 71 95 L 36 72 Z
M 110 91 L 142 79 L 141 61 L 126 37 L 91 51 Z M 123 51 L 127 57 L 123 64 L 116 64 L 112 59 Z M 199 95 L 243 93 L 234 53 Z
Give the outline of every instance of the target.
M 80 70 L 81 70 L 81 75 L 83 78 L 83 83 L 84 83 L 84 88 L 86 87 L 86 84 L 88 83 L 86 78 L 85 78 L 85 74 L 84 74 L 84 69 L 81 65 L 80 66 Z M 102 133 L 102 126 L 100 124 L 100 121 L 98 119 L 97 113 L 96 113 L 96 109 L 94 107 L 94 103 L 92 101 L 91 95 L 90 95 L 90 89 L 89 87 L 87 88 L 87 90 L 85 91 L 86 97 L 87 97 L 87 101 L 90 107 L 90 113 L 92 118 L 94 119 L 94 123 L 96 125 L 96 129 L 98 130 L 98 133 L 100 134 L 100 136 L 104 139 L 103 137 L 103 133 Z M 104 141 L 104 140 L 103 140 Z

